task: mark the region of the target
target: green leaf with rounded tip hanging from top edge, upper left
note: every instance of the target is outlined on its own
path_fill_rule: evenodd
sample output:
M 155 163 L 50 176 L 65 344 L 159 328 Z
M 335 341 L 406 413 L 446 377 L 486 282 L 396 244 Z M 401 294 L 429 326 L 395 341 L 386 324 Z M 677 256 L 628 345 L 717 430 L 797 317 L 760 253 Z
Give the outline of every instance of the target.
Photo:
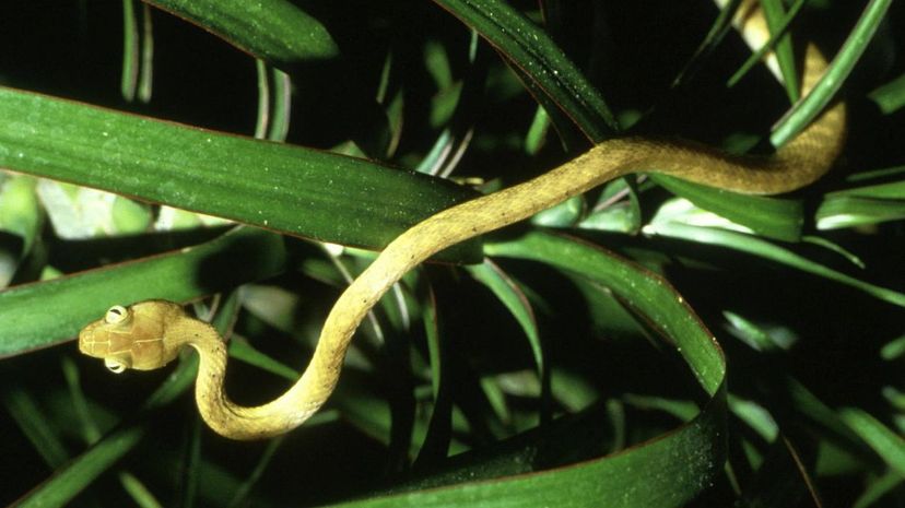
M 337 56 L 327 28 L 287 0 L 149 0 L 273 63 Z

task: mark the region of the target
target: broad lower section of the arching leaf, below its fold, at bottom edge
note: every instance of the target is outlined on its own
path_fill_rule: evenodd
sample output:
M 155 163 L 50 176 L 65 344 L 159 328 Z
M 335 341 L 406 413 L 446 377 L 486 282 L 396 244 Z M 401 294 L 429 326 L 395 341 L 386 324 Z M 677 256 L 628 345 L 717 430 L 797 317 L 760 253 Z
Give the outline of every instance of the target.
M 493 481 L 467 482 L 330 506 L 684 506 L 709 486 L 718 474 L 721 464 L 720 440 L 714 439 L 714 436 L 720 432 L 718 415 L 722 411 L 725 407 L 719 403 L 709 405 L 689 425 L 631 451 L 603 459 Z M 675 460 L 669 460 L 670 457 Z

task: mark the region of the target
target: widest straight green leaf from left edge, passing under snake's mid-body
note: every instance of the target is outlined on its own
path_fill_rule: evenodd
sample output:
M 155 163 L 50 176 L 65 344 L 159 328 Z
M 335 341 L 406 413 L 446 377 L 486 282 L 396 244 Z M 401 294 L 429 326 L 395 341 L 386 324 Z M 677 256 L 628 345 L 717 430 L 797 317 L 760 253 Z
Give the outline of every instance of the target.
M 336 244 L 383 248 L 474 196 L 360 158 L 11 88 L 0 88 L 0 116 L 15 119 L 0 123 L 0 166 Z

